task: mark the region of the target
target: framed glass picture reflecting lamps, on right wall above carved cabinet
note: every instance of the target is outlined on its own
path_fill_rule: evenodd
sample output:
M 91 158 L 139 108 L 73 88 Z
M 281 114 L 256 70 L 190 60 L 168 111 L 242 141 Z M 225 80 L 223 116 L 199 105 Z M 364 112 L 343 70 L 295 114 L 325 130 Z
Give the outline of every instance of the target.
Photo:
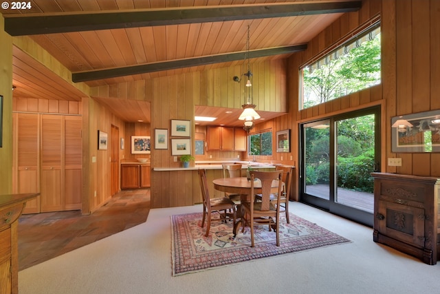
M 440 152 L 440 109 L 391 118 L 391 151 Z

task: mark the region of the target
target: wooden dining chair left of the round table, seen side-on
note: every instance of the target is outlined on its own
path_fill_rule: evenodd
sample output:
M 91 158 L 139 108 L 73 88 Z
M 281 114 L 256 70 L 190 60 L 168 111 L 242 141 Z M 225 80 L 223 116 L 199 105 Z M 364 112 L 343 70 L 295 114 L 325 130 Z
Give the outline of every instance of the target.
M 206 220 L 207 225 L 206 225 L 205 236 L 208 237 L 209 230 L 211 227 L 212 212 L 219 213 L 221 220 L 224 220 L 225 222 L 228 220 L 228 216 L 232 214 L 232 218 L 234 221 L 233 224 L 235 224 L 235 220 L 236 220 L 235 203 L 234 201 L 226 197 L 210 199 L 209 191 L 208 191 L 208 182 L 206 181 L 205 169 L 199 169 L 199 181 L 201 188 L 201 196 L 203 198 L 203 218 L 201 219 L 201 227 L 203 228 Z M 232 213 L 227 213 L 228 210 L 232 211 Z M 221 211 L 223 211 L 223 216 L 220 213 Z

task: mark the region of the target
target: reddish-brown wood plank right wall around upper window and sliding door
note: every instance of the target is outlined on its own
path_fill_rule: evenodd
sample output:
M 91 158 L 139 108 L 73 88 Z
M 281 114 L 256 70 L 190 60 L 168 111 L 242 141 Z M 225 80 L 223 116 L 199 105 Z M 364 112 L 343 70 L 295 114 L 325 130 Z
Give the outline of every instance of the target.
M 381 13 L 380 13 L 381 12 Z M 358 26 L 381 15 L 382 85 L 298 112 L 298 68 L 322 54 Z M 322 31 L 305 52 L 289 59 L 289 115 L 274 125 L 290 125 L 298 138 L 298 122 L 382 105 L 382 171 L 415 176 L 440 176 L 440 154 L 391 152 L 391 118 L 440 109 L 440 2 L 435 0 L 366 0 L 359 12 L 344 14 Z M 292 125 L 285 123 L 292 117 Z M 298 145 L 293 151 L 298 158 Z M 402 158 L 401 167 L 388 167 L 387 158 Z M 298 171 L 297 171 L 298 173 Z M 296 174 L 298 178 L 298 174 Z

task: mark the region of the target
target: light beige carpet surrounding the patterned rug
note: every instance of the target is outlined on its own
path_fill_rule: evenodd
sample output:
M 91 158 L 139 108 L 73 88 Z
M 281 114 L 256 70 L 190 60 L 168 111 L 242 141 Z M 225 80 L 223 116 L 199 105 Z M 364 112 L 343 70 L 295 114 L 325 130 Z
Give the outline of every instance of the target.
M 353 242 L 173 277 L 170 216 L 201 206 L 151 209 L 144 224 L 20 271 L 19 293 L 440 293 L 440 263 L 373 242 L 369 227 L 290 204 Z

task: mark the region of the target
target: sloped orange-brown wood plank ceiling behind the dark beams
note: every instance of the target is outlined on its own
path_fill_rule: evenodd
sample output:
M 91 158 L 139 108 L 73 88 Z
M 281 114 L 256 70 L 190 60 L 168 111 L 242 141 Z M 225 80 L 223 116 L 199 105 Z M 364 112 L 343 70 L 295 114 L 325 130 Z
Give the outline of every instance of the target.
M 33 0 L 5 10 L 5 31 L 29 35 L 89 87 L 243 63 L 250 25 L 252 63 L 287 58 L 362 1 Z M 79 101 L 83 94 L 20 49 L 13 50 L 14 97 Z M 231 77 L 232 78 L 232 77 Z M 149 105 L 100 101 L 126 121 Z M 141 103 L 142 104 L 142 103 Z M 133 109 L 132 107 L 137 107 Z M 210 112 L 197 107 L 196 114 Z M 236 109 L 235 109 L 236 110 Z M 218 112 L 219 109 L 211 109 Z M 266 119 L 277 114 L 267 114 Z M 279 115 L 279 114 L 278 114 Z M 225 116 L 221 116 L 225 117 Z M 222 118 L 223 120 L 223 118 Z M 224 119 L 227 121 L 227 118 Z M 222 123 L 217 121 L 218 124 Z

